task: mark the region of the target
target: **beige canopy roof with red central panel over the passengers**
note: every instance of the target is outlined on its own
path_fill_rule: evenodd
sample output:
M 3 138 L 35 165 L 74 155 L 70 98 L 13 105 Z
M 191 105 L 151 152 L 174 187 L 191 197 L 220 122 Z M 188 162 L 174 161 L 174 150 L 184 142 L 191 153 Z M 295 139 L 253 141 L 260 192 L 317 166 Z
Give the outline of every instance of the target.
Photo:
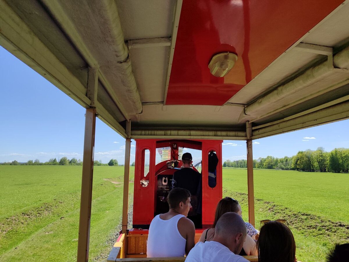
M 0 45 L 124 137 L 131 120 L 131 138 L 349 118 L 348 24 L 348 0 L 0 0 Z M 238 60 L 217 78 L 220 52 Z

